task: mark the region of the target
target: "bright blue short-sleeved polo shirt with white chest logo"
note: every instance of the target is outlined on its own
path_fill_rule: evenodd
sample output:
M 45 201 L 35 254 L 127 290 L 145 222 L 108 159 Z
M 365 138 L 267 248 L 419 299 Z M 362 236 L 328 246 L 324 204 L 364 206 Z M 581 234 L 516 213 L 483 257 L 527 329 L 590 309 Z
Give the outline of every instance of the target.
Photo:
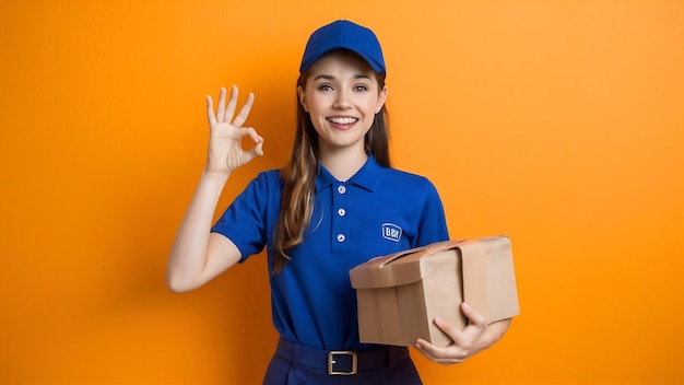
M 282 187 L 278 170 L 259 174 L 213 226 L 239 248 L 240 262 L 267 247 L 269 270 L 273 268 Z M 276 330 L 310 348 L 366 349 L 358 342 L 349 270 L 377 256 L 448 238 L 441 200 L 427 178 L 382 167 L 373 156 L 346 182 L 320 166 L 304 243 L 290 250 L 292 260 L 283 271 L 270 275 Z

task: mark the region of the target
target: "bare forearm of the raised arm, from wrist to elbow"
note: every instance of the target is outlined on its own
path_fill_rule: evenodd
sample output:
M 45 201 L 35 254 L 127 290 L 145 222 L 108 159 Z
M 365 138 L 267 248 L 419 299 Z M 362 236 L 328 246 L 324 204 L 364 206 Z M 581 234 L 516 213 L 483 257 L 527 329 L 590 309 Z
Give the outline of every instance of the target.
M 227 173 L 204 171 L 200 177 L 168 258 L 166 281 L 173 291 L 192 290 L 205 281 L 209 235 L 228 176 Z

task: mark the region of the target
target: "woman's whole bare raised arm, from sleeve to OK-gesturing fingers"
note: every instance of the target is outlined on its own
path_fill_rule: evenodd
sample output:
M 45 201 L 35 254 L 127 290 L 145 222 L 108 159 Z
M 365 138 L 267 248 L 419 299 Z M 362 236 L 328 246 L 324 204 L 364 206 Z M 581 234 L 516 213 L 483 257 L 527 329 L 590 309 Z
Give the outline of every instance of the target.
M 226 90 L 221 89 L 216 113 L 211 96 L 207 96 L 207 117 L 211 129 L 207 166 L 178 228 L 166 268 L 168 287 L 175 292 L 201 287 L 237 264 L 241 257 L 233 241 L 212 233 L 211 226 L 221 191 L 231 173 L 263 154 L 263 138 L 253 128 L 243 127 L 253 101 L 255 95 L 249 94 L 235 116 L 237 86 L 233 85 L 227 103 Z M 256 143 L 248 151 L 243 150 L 240 143 L 245 137 Z

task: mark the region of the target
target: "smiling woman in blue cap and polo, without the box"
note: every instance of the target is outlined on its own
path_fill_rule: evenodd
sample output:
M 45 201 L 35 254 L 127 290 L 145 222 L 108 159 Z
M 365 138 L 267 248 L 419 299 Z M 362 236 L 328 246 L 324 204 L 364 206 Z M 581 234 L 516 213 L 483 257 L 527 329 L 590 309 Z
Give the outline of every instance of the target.
M 390 166 L 387 70 L 370 30 L 349 21 L 322 26 L 309 37 L 299 71 L 290 163 L 259 174 L 213 226 L 231 173 L 263 154 L 263 138 L 243 127 L 253 95 L 237 115 L 236 86 L 227 104 L 221 90 L 215 113 L 208 96 L 208 162 L 170 253 L 168 284 L 199 288 L 267 247 L 281 339 L 264 384 L 421 384 L 406 348 L 358 341 L 349 270 L 448 240 L 441 201 L 429 180 Z M 244 137 L 252 149 L 241 149 Z M 462 311 L 470 319 L 463 330 L 435 319 L 451 346 L 418 339 L 416 349 L 439 363 L 461 362 L 509 324 L 486 325 L 465 304 Z

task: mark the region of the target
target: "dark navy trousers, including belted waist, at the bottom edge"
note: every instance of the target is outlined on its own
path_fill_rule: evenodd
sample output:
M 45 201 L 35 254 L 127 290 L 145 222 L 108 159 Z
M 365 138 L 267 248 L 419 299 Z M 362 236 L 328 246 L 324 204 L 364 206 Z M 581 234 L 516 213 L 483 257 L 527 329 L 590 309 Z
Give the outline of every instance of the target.
M 378 347 L 354 354 L 330 354 L 280 339 L 263 378 L 264 385 L 421 385 L 421 377 L 403 347 Z M 353 363 L 356 361 L 356 373 Z M 329 374 L 332 372 L 333 374 Z

